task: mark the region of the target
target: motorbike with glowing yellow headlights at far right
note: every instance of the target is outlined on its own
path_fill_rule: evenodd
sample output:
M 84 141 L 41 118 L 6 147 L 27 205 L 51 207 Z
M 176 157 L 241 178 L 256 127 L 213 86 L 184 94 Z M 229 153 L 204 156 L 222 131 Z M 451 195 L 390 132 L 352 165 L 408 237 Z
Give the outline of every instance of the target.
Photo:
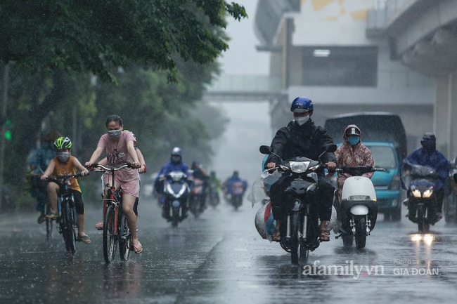
M 406 163 L 401 166 L 401 180 L 407 190 L 408 198 L 403 204 L 408 206 L 409 220 L 418 224 L 419 232 L 428 232 L 430 225 L 439 220 L 434 212 L 437 206 L 433 191 L 437 180 L 435 169 Z

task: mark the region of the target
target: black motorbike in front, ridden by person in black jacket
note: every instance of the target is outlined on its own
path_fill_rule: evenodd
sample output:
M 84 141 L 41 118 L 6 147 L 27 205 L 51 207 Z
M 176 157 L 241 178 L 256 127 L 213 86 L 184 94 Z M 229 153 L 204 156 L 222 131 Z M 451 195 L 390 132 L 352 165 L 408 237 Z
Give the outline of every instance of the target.
M 292 264 L 306 263 L 309 251 L 320 244 L 318 225 L 318 171 L 324 166 L 321 157 L 326 152 L 335 152 L 336 145 L 328 145 L 315 161 L 307 157 L 295 157 L 281 161 L 278 171 L 288 176 L 285 187 L 285 213 L 280 227 L 281 247 L 290 253 Z M 271 147 L 262 145 L 262 154 L 272 154 Z M 286 182 L 285 182 L 286 183 Z

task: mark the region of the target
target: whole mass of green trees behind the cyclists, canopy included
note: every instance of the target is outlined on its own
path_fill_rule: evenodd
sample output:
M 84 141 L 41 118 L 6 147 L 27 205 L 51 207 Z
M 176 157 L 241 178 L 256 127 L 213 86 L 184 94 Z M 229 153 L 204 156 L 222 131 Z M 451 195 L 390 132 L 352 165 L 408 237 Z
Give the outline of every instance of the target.
M 243 6 L 221 0 L 1 1 L 0 72 L 9 65 L 13 131 L 6 143 L 8 185 L 22 185 L 42 128 L 70 136 L 72 152 L 85 161 L 113 113 L 152 164 L 160 166 L 174 145 L 186 148 L 189 161 L 208 159 L 209 140 L 226 119 L 195 103 L 228 47 L 227 14 L 247 16 Z

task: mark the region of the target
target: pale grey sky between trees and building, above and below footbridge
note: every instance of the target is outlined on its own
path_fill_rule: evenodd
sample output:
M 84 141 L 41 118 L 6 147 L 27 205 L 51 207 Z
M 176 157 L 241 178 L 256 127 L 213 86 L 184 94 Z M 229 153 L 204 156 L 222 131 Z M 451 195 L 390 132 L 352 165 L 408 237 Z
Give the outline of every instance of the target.
M 257 52 L 259 44 L 254 34 L 254 17 L 257 0 L 238 0 L 245 6 L 248 19 L 240 22 L 230 20 L 227 32 L 231 37 L 230 48 L 220 58 L 223 74 L 267 75 L 269 70 L 268 53 Z M 216 155 L 214 170 L 225 179 L 234 170 L 240 171 L 250 185 L 261 173 L 263 155 L 259 145 L 271 143 L 271 129 L 268 102 L 257 103 L 218 103 L 231 120 L 226 133 L 214 145 Z M 244 204 L 247 204 L 245 201 Z

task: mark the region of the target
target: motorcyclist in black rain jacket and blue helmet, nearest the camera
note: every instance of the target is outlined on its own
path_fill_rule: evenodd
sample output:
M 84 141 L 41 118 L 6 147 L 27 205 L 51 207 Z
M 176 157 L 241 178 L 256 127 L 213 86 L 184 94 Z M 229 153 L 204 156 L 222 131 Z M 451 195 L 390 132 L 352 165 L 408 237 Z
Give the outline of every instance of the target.
M 266 168 L 274 168 L 281 160 L 290 159 L 292 157 L 308 157 L 310 159 L 318 159 L 319 155 L 325 150 L 326 145 L 333 144 L 333 139 L 330 138 L 327 131 L 321 126 L 316 126 L 311 121 L 313 114 L 313 102 L 309 98 L 297 97 L 293 100 L 290 111 L 294 113 L 295 120 L 290 121 L 288 126 L 280 128 L 274 136 L 271 147 L 272 153 L 266 160 Z M 276 156 L 277 154 L 278 156 Z M 280 158 L 281 157 L 281 158 Z M 321 158 L 326 164 L 329 173 L 335 172 L 336 157 L 333 152 L 326 152 Z M 270 198 L 273 211 L 273 218 L 276 220 L 276 229 L 273 234 L 273 241 L 279 242 L 281 236 L 279 227 L 281 219 L 284 216 L 285 210 L 281 206 L 284 194 L 284 181 L 287 176 L 281 176 L 276 183 L 271 185 Z M 326 230 L 326 225 L 332 215 L 332 204 L 335 187 L 333 187 L 325 178 L 325 173 L 322 169 L 318 173 L 318 201 L 319 201 L 319 239 L 321 242 L 330 240 L 330 232 Z

